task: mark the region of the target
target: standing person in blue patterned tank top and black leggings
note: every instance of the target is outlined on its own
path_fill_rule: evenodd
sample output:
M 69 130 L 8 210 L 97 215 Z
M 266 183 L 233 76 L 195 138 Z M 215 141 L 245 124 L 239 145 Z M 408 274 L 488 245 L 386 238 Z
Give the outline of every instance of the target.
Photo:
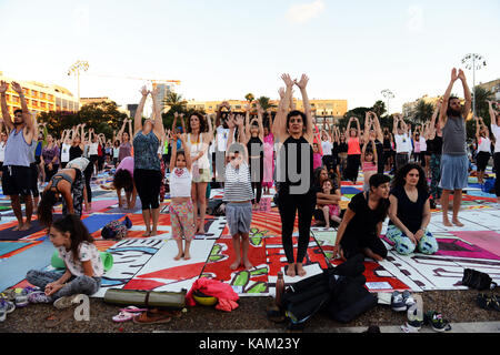
M 158 156 L 158 148 L 164 134 L 163 123 L 157 102 L 157 91 L 150 92 L 142 87 L 142 99 L 133 119 L 133 181 L 137 193 L 141 200 L 142 219 L 146 224 L 146 232 L 142 236 L 154 236 L 158 234 L 158 220 L 160 217 L 160 186 L 161 186 L 161 163 Z M 142 111 L 148 94 L 153 100 L 154 120 L 142 120 Z M 151 227 L 152 221 L 152 227 Z

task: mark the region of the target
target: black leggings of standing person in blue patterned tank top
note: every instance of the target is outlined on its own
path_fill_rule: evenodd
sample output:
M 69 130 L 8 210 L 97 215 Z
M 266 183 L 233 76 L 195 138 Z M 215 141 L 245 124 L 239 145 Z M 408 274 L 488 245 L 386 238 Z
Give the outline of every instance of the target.
M 160 207 L 161 171 L 136 169 L 133 182 L 141 199 L 142 211 Z

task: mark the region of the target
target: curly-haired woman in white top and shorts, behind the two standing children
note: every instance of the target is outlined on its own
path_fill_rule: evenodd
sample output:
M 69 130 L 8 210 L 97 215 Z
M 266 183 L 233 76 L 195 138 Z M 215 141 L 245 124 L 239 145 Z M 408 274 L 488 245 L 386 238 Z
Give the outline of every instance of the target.
M 208 121 L 208 124 L 207 124 Z M 207 130 L 208 125 L 208 130 Z M 192 162 L 191 197 L 194 203 L 197 234 L 204 234 L 204 214 L 207 210 L 207 185 L 211 180 L 208 148 L 213 139 L 212 122 L 201 113 L 191 114 L 188 123 L 188 133 L 182 134 L 186 146 L 189 149 Z M 198 220 L 198 205 L 200 216 Z

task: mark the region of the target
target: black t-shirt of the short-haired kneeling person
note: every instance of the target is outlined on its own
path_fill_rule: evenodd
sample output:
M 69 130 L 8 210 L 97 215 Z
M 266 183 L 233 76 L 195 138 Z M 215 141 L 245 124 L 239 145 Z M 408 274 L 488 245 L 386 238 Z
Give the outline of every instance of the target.
M 364 197 L 364 192 L 360 192 L 353 196 L 348 207 L 356 214 L 346 227 L 343 237 L 348 235 L 361 237 L 363 235 L 376 234 L 377 224 L 386 220 L 387 209 L 381 207 L 381 204 L 384 203 L 389 206 L 388 201 L 380 200 L 379 207 L 371 210 L 368 206 L 368 195 Z

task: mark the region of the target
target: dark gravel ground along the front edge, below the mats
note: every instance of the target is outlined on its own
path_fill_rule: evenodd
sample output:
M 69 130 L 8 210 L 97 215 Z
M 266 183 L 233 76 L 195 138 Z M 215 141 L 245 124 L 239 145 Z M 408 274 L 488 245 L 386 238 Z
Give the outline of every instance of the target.
M 493 292 L 500 295 L 498 288 Z M 440 291 L 422 293 L 424 312 L 436 310 L 451 323 L 463 322 L 498 322 L 500 312 L 484 311 L 476 305 L 478 291 Z M 114 323 L 111 317 L 119 313 L 120 306 L 106 304 L 101 298 L 90 300 L 90 321 L 77 322 L 72 317 L 54 328 L 44 327 L 44 320 L 56 310 L 52 305 L 29 305 L 9 314 L 7 321 L 0 323 L 0 333 L 150 333 L 159 332 L 234 332 L 261 331 L 286 332 L 286 323 L 274 324 L 266 316 L 267 306 L 271 297 L 241 297 L 239 307 L 230 313 L 214 307 L 189 307 L 180 318 L 172 318 L 170 323 L 157 325 L 141 325 L 133 322 Z M 307 322 L 304 333 L 329 332 L 338 327 L 370 325 L 402 325 L 406 313 L 396 313 L 387 305 L 378 305 L 362 314 L 349 324 L 341 324 L 318 313 Z

